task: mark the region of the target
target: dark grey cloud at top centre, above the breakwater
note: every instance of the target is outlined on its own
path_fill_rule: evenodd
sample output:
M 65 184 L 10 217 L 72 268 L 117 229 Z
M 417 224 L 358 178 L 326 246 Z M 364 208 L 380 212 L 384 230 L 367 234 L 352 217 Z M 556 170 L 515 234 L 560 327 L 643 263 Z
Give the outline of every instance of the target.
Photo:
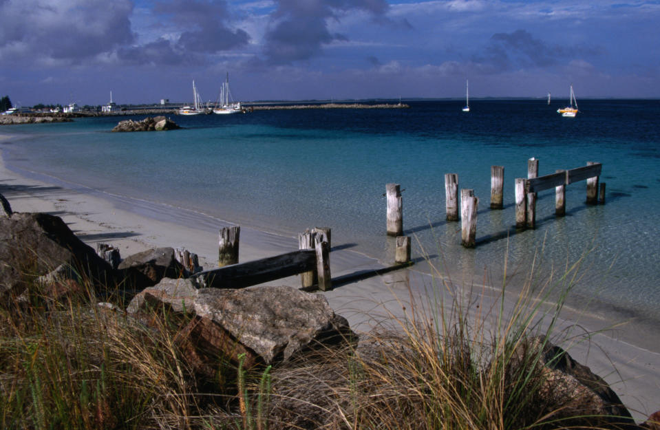
M 266 58 L 275 64 L 307 60 L 325 44 L 348 40 L 343 34 L 330 33 L 328 19 L 339 19 L 339 14 L 352 10 L 383 17 L 388 8 L 385 0 L 280 0 L 273 26 L 266 33 Z

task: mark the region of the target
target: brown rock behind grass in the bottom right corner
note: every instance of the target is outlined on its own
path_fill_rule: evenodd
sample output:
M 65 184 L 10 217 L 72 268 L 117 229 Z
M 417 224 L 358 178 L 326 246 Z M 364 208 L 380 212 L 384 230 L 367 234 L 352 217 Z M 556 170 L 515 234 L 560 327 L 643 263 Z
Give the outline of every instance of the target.
M 540 337 L 530 338 L 514 353 L 511 367 L 530 357 L 538 357 L 542 383 L 536 394 L 546 412 L 551 413 L 548 420 L 559 420 L 557 425 L 562 428 L 621 428 L 635 424 L 630 411 L 603 378 L 577 363 L 561 347 Z

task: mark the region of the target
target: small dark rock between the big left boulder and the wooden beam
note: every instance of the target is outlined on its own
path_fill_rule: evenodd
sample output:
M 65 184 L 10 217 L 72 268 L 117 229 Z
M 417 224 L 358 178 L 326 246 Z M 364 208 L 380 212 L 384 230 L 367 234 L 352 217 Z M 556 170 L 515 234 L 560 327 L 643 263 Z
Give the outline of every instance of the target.
M 142 290 L 156 285 L 164 277 L 179 277 L 183 266 L 174 259 L 174 248 L 153 248 L 129 255 L 117 270 L 128 286 Z

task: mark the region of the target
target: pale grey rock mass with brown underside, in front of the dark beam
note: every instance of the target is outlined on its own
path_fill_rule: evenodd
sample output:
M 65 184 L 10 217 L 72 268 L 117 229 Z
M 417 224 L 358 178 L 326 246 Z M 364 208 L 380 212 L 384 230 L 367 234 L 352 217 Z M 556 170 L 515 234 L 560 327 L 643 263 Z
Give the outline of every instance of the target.
M 325 297 L 292 287 L 196 289 L 189 279 L 163 279 L 136 295 L 127 312 L 136 313 L 154 302 L 195 315 L 195 326 L 187 327 L 181 334 L 200 336 L 191 339 L 193 345 L 213 345 L 231 357 L 236 356 L 239 343 L 266 364 L 286 361 L 302 350 L 342 343 L 354 336 L 348 321 L 334 314 Z M 204 337 L 206 334 L 209 336 Z M 217 351 L 213 357 L 217 360 Z

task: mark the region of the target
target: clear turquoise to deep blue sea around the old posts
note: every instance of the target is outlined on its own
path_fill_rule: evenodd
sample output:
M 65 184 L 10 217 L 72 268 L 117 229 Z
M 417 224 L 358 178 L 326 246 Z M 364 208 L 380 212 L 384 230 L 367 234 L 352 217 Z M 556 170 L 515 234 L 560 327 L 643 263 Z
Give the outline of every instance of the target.
M 462 100 L 405 103 L 172 116 L 184 129 L 167 133 L 109 132 L 144 116 L 3 126 L 21 138 L 0 147 L 12 169 L 162 211 L 184 208 L 291 237 L 330 227 L 333 246 L 384 264 L 393 255 L 385 184 L 395 182 L 418 270 L 478 275 L 498 287 L 505 265 L 520 284 L 532 262 L 557 277 L 580 261 L 572 305 L 660 321 L 660 100 L 579 100 L 577 118 L 557 114 L 566 100 L 471 100 L 469 113 Z M 606 204 L 587 206 L 586 182 L 577 182 L 566 187 L 566 217 L 557 218 L 554 191 L 543 191 L 536 228 L 515 231 L 514 180 L 526 178 L 532 157 L 539 175 L 601 162 Z M 501 211 L 489 208 L 492 165 L 504 166 Z M 459 223 L 445 221 L 445 173 L 458 173 L 459 187 L 480 199 L 474 249 L 460 245 Z

